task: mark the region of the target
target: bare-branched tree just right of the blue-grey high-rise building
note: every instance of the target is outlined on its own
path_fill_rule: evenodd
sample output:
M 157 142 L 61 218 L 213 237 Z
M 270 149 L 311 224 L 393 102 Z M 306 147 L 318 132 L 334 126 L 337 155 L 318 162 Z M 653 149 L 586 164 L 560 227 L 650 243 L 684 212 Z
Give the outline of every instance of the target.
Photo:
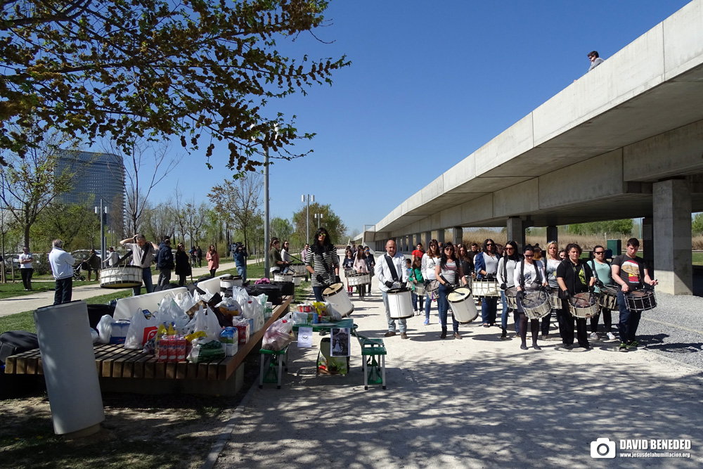
M 127 233 L 138 233 L 151 191 L 181 162 L 183 155 L 169 152 L 169 143 L 155 144 L 150 141 L 135 141 L 131 154 L 113 142 L 106 143 L 111 153 L 124 159 L 124 185 L 127 192 Z

